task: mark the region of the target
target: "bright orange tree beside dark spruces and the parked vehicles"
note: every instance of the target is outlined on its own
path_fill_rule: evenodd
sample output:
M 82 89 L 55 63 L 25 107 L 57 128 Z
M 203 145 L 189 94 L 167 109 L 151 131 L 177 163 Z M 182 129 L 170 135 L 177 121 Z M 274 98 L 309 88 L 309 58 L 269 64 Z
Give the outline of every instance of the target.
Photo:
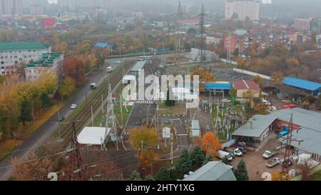
M 218 150 L 222 149 L 222 145 L 213 132 L 207 132 L 200 139 L 200 148 L 206 151 L 206 155 L 218 156 Z

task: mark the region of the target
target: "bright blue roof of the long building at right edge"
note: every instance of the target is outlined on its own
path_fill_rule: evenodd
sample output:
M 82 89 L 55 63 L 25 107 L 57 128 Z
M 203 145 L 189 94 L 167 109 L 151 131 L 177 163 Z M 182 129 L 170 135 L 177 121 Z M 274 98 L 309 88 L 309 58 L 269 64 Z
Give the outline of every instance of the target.
M 306 89 L 309 91 L 315 91 L 321 88 L 321 84 L 319 83 L 298 79 L 295 77 L 285 77 L 285 79 L 283 80 L 283 84 L 286 84 L 289 86 L 295 86 L 297 88 Z

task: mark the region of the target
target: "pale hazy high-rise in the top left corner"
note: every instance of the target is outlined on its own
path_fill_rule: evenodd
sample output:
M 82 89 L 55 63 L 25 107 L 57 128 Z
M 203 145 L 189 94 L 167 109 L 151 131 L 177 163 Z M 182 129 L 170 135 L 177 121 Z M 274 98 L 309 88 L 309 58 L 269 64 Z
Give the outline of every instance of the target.
M 22 15 L 22 0 L 1 0 L 2 15 Z

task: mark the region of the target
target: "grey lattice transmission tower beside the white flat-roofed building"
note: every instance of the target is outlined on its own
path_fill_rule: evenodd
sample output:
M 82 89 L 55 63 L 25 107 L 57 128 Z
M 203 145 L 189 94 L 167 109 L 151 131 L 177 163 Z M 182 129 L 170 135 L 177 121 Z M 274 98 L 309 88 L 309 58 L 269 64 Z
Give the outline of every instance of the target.
M 116 115 L 113 109 L 113 97 L 111 94 L 111 84 L 108 86 L 108 96 L 107 96 L 107 112 L 106 112 L 106 141 L 111 139 L 111 141 L 114 142 L 116 149 L 118 150 L 118 141 L 121 140 L 121 136 L 118 135 L 117 132 L 117 119 Z M 106 149 L 106 146 L 104 145 L 104 148 Z

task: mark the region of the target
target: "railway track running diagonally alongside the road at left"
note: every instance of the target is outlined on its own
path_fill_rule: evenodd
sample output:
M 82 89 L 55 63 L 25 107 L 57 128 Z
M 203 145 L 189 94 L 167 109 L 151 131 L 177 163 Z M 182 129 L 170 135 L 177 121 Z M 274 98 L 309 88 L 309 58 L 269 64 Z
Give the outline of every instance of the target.
M 101 87 L 98 87 L 99 92 L 97 94 L 94 94 L 91 101 L 89 101 L 86 105 L 86 108 L 81 110 L 81 112 L 74 119 L 70 119 L 70 121 L 76 121 L 76 134 L 78 134 L 78 132 L 81 131 L 84 126 L 86 126 L 86 122 L 90 119 L 91 106 L 93 106 L 93 110 L 99 109 L 99 107 L 101 106 L 101 95 L 103 95 L 103 98 L 108 96 L 108 85 L 111 84 L 111 88 L 113 89 L 121 81 L 121 79 L 123 79 L 123 71 L 125 73 L 128 72 L 128 70 L 131 69 L 134 63 L 135 61 L 126 61 L 123 62 L 123 66 L 118 65 L 118 67 L 106 77 L 106 80 L 103 81 L 103 83 L 101 84 L 102 89 Z M 66 124 L 66 126 L 61 126 L 61 139 L 63 139 L 63 149 L 66 149 L 70 144 L 69 139 L 71 138 L 72 134 L 72 122 L 69 122 L 68 124 Z

